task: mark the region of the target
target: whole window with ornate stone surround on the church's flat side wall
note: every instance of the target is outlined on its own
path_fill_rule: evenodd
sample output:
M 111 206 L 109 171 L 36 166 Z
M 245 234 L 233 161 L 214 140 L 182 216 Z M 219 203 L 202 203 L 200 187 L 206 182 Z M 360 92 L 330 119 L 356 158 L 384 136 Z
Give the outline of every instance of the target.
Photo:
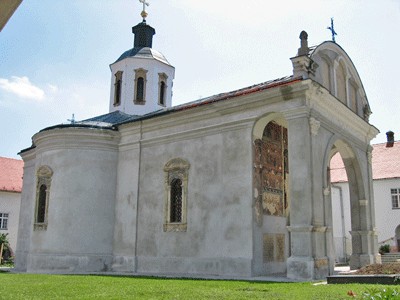
M 174 158 L 164 166 L 164 232 L 187 231 L 188 170 L 190 164 Z

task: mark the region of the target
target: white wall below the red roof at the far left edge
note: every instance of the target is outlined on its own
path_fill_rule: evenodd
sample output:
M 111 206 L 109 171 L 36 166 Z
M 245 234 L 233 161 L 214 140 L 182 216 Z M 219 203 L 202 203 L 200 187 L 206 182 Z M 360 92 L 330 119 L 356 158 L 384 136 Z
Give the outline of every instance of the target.
M 21 193 L 0 191 L 0 213 L 8 214 L 7 230 L 0 229 L 0 234 L 8 233 L 8 241 L 14 252 L 17 247 L 20 204 Z

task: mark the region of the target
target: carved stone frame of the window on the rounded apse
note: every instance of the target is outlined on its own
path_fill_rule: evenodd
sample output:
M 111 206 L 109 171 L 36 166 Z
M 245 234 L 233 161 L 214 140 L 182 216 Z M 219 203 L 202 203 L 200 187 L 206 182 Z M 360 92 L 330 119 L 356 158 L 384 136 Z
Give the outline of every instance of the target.
M 41 166 L 37 172 L 37 184 L 36 184 L 36 203 L 35 203 L 35 222 L 33 225 L 34 230 L 46 230 L 48 224 L 48 208 L 50 199 L 50 187 L 51 180 L 53 177 L 53 171 L 49 166 Z M 45 186 L 45 204 L 43 208 L 39 207 L 39 201 L 43 197 L 42 186 Z M 43 211 L 42 211 L 43 210 Z M 43 220 L 39 220 L 39 213 L 43 216 Z

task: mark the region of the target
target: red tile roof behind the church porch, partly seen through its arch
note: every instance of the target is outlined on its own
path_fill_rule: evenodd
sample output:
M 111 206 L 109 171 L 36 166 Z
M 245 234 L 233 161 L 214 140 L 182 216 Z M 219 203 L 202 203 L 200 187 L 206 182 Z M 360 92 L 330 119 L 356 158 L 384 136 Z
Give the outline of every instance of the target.
M 376 179 L 400 178 L 400 141 L 392 147 L 386 143 L 372 145 L 372 177 Z M 330 163 L 331 182 L 347 182 L 343 161 L 337 153 Z

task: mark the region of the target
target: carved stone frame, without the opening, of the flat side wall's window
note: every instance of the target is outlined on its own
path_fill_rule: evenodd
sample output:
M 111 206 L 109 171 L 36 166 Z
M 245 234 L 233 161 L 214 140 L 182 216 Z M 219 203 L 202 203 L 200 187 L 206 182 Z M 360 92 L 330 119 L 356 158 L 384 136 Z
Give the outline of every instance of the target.
M 164 232 L 187 231 L 189 168 L 189 162 L 182 158 L 173 158 L 164 166 Z M 171 222 L 171 184 L 175 179 L 179 179 L 182 182 L 182 209 L 180 222 Z

